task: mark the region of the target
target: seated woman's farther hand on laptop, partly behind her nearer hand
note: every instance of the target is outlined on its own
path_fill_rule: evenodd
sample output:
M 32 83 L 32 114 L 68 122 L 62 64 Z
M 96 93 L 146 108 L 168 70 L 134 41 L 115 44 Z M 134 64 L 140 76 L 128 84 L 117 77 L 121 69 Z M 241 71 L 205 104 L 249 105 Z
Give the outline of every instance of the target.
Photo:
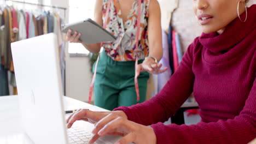
M 90 111 L 88 109 L 80 109 L 72 113 L 71 116 L 68 117 L 66 123 L 67 123 L 67 128 L 71 128 L 73 123 L 75 121 L 87 121 L 92 124 L 97 123 L 100 121 L 102 118 L 110 115 L 110 114 L 117 115 L 119 117 L 123 117 L 127 119 L 126 114 L 123 111 Z

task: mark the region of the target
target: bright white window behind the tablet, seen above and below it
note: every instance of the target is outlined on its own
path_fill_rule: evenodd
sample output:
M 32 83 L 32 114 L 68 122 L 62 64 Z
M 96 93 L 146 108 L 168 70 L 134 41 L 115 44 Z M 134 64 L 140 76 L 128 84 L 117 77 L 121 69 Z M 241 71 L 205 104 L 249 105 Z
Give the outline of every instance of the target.
M 69 23 L 83 21 L 85 19 L 94 19 L 94 5 L 96 0 L 72 0 L 69 1 Z M 69 43 L 69 53 L 86 53 L 82 44 Z

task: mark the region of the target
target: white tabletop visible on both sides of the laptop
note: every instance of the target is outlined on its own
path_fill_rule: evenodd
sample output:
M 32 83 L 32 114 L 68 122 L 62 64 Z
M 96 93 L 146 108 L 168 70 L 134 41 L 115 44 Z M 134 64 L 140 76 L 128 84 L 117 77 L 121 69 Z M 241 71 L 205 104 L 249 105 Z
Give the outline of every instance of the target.
M 65 110 L 90 109 L 106 111 L 100 107 L 63 97 Z M 0 143 L 1 144 L 32 144 L 24 133 L 19 113 L 18 95 L 0 97 Z

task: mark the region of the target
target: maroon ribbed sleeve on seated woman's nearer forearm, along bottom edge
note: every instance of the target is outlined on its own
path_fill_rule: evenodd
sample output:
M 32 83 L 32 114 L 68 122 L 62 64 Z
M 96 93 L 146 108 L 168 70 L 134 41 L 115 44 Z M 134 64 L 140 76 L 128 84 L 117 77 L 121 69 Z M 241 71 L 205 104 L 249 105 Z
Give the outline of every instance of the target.
M 151 125 L 162 143 L 248 143 L 256 137 L 256 79 L 240 115 L 227 121 L 196 125 Z

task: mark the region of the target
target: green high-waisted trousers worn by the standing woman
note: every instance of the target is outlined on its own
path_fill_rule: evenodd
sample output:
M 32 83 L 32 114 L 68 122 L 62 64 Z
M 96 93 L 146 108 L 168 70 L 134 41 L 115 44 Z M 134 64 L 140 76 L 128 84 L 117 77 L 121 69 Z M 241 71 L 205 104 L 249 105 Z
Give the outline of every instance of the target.
M 138 63 L 142 62 L 143 60 Z M 93 72 L 94 69 L 95 64 Z M 114 61 L 102 51 L 94 83 L 94 104 L 103 109 L 113 110 L 119 106 L 131 106 L 145 101 L 149 74 L 142 72 L 138 77 L 139 101 L 137 101 L 134 76 L 134 61 Z

